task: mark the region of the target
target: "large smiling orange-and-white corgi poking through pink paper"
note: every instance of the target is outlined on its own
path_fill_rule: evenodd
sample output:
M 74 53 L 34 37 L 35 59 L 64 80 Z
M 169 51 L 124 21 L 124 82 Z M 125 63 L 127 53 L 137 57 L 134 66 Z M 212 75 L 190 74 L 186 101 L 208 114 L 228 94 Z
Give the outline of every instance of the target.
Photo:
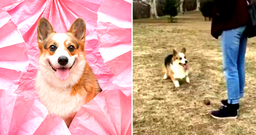
M 85 30 L 82 18 L 67 33 L 56 33 L 45 18 L 37 24 L 37 94 L 49 115 L 58 115 L 68 127 L 80 107 L 102 91 L 85 59 Z

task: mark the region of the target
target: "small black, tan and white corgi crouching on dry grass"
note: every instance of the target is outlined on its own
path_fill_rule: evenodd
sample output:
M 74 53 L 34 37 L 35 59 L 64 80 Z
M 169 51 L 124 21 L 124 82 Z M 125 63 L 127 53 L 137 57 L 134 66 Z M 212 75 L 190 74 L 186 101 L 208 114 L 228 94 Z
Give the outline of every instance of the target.
M 188 60 L 186 59 L 186 49 L 182 48 L 181 52 L 176 52 L 168 55 L 164 59 L 164 79 L 171 77 L 175 87 L 180 87 L 178 79 L 186 77 L 186 82 L 190 83 L 188 77 Z

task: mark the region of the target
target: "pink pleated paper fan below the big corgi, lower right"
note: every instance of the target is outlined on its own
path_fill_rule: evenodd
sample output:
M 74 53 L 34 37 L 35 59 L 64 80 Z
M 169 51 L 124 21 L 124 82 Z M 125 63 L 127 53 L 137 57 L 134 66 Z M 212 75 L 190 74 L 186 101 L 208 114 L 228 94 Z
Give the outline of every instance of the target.
M 81 107 L 69 131 L 72 135 L 131 135 L 131 98 L 118 89 L 102 91 Z

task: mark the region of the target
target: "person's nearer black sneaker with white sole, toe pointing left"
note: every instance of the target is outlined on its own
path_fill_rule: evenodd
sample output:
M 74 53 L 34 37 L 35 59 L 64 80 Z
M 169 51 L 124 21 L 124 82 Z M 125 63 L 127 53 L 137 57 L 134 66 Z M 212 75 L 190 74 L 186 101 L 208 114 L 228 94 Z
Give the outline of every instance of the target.
M 238 107 L 237 107 L 238 106 Z M 215 119 L 229 120 L 237 118 L 237 109 L 239 104 L 228 104 L 227 107 L 222 106 L 217 111 L 212 111 L 211 115 Z

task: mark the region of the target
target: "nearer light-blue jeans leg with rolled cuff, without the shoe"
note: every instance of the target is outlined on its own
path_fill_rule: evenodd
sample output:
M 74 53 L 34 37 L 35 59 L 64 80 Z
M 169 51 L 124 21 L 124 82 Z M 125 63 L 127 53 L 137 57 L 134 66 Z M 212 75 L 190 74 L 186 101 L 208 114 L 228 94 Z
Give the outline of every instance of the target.
M 245 27 L 239 27 L 223 31 L 222 52 L 223 52 L 223 70 L 227 81 L 228 104 L 238 104 L 240 98 L 240 86 L 238 75 L 238 56 L 240 48 L 240 39 L 243 36 Z M 241 61 L 241 60 L 240 60 Z

